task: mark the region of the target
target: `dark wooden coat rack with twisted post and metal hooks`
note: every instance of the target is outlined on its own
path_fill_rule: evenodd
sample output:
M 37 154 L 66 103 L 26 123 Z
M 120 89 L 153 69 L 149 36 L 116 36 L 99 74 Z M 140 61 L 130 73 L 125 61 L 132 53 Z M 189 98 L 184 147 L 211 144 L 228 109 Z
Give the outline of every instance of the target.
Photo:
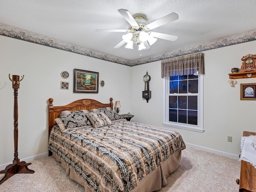
M 0 180 L 0 184 L 15 174 L 35 172 L 28 168 L 31 163 L 26 163 L 25 161 L 20 162 L 20 159 L 18 158 L 18 88 L 20 88 L 20 82 L 23 80 L 23 78 L 24 75 L 22 76 L 21 80 L 20 76 L 13 75 L 11 79 L 9 74 L 9 79 L 12 81 L 12 88 L 14 90 L 14 160 L 12 161 L 12 164 L 6 166 L 5 170 L 0 171 L 0 173 L 5 173 L 4 177 Z

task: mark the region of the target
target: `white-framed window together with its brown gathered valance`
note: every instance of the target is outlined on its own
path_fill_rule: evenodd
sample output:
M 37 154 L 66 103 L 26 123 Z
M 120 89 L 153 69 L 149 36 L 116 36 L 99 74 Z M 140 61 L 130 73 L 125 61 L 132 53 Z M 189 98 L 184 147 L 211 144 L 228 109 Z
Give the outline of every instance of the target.
M 163 125 L 204 132 L 204 54 L 162 60 L 161 73 L 164 79 Z

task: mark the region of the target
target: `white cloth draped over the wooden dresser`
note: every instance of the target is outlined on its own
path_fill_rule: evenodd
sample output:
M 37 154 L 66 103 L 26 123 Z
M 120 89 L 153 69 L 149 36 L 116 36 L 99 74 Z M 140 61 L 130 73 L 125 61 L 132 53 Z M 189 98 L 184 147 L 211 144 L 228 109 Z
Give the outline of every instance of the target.
M 256 138 L 256 136 L 251 135 L 241 138 L 241 155 L 239 161 L 244 160 L 249 162 L 256 168 L 256 150 L 252 146 L 253 138 Z

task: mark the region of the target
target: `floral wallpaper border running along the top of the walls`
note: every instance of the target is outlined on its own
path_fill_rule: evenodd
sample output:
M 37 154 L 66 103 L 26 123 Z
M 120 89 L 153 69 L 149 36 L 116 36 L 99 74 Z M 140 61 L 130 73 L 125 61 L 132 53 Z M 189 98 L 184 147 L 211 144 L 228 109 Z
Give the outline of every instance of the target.
M 138 60 L 127 60 L 127 59 L 119 58 L 114 55 L 106 54 L 106 53 L 88 49 L 88 48 L 83 48 L 81 46 L 70 44 L 68 42 L 57 40 L 55 38 L 50 38 L 42 34 L 37 34 L 31 31 L 10 26 L 8 24 L 4 24 L 1 22 L 0 22 L 0 35 L 8 36 L 8 37 L 12 37 L 12 38 L 16 38 L 24 41 L 36 43 L 36 44 L 41 44 L 44 46 L 49 46 L 49 47 L 57 48 L 60 50 L 74 52 L 77 54 L 82 54 L 82 55 L 94 57 L 97 59 L 115 62 L 118 64 L 123 64 L 127 66 L 136 66 L 140 64 L 173 58 L 177 56 L 182 56 L 182 55 L 192 54 L 196 52 L 202 52 L 206 50 L 220 48 L 224 46 L 230 46 L 234 44 L 253 41 L 253 40 L 256 40 L 256 29 L 242 32 L 240 34 L 226 36 L 224 38 L 219 38 L 219 39 L 208 41 L 208 42 L 202 42 L 202 43 L 178 48 L 176 50 L 164 52 L 162 54 L 157 54 L 150 57 L 141 58 Z

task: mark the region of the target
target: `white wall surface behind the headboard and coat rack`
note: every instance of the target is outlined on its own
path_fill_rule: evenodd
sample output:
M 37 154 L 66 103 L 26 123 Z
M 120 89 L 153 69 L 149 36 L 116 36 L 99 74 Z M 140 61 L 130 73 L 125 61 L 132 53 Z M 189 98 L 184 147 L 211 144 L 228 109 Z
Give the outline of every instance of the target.
M 105 86 L 98 94 L 73 93 L 73 69 L 99 72 Z M 67 70 L 68 79 L 60 73 Z M 82 56 L 6 36 L 0 36 L 0 167 L 14 159 L 14 95 L 8 74 L 22 75 L 18 90 L 18 157 L 20 159 L 48 152 L 48 99 L 61 106 L 82 98 L 108 103 L 121 101 L 120 114 L 131 111 L 131 67 Z M 60 90 L 60 81 L 70 83 Z

